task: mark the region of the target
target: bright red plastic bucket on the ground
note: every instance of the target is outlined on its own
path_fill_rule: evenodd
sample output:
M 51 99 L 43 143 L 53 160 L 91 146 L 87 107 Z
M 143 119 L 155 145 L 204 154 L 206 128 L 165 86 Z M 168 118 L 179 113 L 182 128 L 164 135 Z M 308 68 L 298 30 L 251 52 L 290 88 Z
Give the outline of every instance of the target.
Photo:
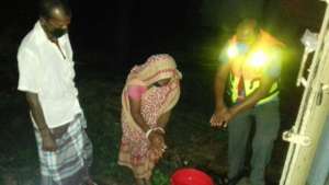
M 215 185 L 207 174 L 195 169 L 175 171 L 170 182 L 171 185 Z

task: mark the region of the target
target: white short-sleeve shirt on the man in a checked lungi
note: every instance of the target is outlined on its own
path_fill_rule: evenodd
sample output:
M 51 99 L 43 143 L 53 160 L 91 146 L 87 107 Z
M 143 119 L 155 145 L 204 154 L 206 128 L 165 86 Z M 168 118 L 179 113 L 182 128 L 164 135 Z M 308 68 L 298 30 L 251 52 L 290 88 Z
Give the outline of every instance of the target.
M 72 49 L 68 34 L 52 43 L 39 22 L 23 38 L 19 53 L 20 91 L 37 93 L 49 128 L 63 126 L 82 113 L 75 85 Z

